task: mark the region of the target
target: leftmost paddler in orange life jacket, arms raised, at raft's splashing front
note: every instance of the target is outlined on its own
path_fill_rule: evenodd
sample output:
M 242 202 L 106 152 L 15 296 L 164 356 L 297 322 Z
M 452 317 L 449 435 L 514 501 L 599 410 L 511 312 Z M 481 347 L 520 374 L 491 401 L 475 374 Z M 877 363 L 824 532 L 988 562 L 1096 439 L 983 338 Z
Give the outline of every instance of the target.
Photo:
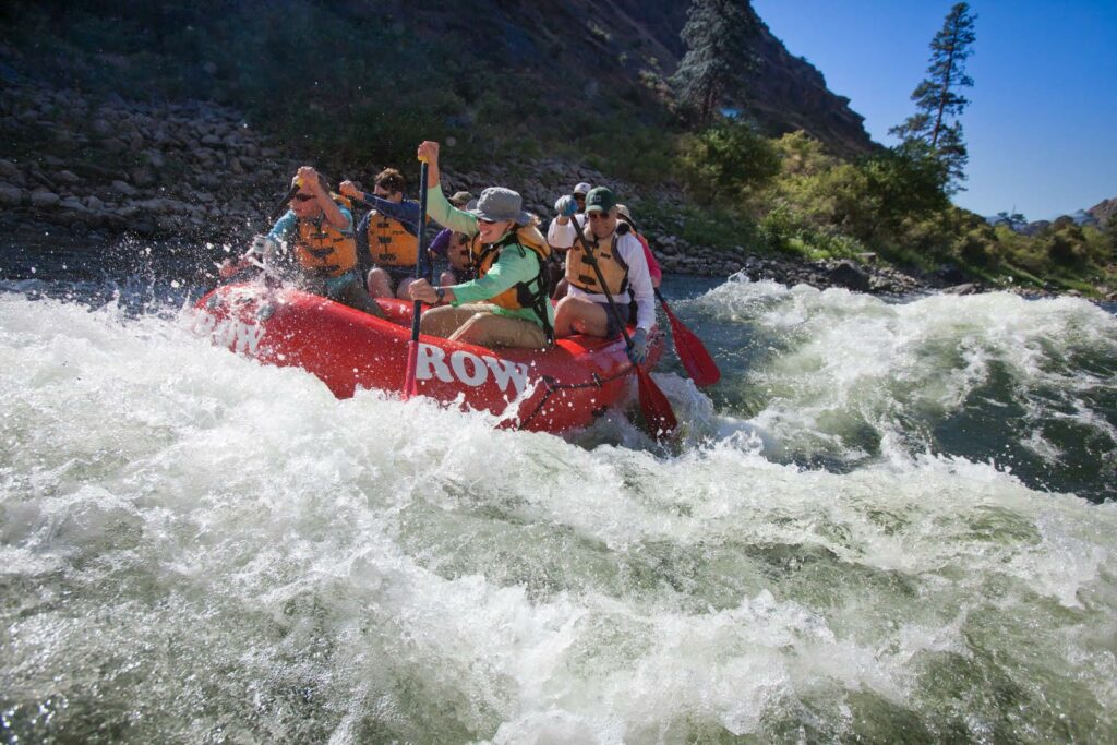
M 257 236 L 252 247 L 238 262 L 222 266 L 221 275 L 264 261 L 269 266 L 294 265 L 296 284 L 306 292 L 344 303 L 350 307 L 383 317 L 376 302 L 369 297 L 357 270 L 353 214 L 341 198 L 330 191 L 326 180 L 308 165 L 295 174 L 290 209 L 273 226 L 267 236 Z

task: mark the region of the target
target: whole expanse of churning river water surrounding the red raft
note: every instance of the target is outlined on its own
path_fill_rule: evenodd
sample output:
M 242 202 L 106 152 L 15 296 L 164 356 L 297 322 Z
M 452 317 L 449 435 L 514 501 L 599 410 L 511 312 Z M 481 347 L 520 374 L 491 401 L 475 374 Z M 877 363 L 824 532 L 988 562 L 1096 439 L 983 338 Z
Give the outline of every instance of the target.
M 666 360 L 660 447 L 338 401 L 191 333 L 197 273 L 31 264 L 6 742 L 1117 739 L 1113 308 L 669 278 L 724 378 Z

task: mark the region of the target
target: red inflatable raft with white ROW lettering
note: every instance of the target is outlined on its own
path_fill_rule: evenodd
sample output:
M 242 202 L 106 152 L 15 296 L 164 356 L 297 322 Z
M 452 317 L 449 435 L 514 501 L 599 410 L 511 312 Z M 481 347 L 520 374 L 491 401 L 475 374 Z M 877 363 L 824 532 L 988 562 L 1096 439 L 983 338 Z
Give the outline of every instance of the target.
M 198 302 L 198 328 L 216 344 L 280 366 L 298 366 L 334 395 L 400 391 L 411 340 L 411 303 L 380 300 L 386 319 L 293 288 L 227 285 Z M 648 345 L 650 369 L 662 335 Z M 489 350 L 419 337 L 419 393 L 503 418 L 503 426 L 557 432 L 586 427 L 624 394 L 634 374 L 623 340 L 558 340 L 547 350 Z

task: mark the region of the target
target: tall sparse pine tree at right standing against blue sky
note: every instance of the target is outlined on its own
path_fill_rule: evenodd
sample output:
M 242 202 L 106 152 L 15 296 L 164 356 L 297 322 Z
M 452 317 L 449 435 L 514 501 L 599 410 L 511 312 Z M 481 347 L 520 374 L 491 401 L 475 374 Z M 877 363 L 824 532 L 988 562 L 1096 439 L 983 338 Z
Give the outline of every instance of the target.
M 958 117 L 970 99 L 958 93 L 958 88 L 973 87 L 973 78 L 966 75 L 966 59 L 973 55 L 971 48 L 977 38 L 974 32 L 976 20 L 970 4 L 960 2 L 951 8 L 942 30 L 930 41 L 929 77 L 911 93 L 917 112 L 904 124 L 888 131 L 904 142 L 920 141 L 930 149 L 934 157 L 945 166 L 948 192 L 958 191 L 964 181 L 970 154 L 962 136 Z

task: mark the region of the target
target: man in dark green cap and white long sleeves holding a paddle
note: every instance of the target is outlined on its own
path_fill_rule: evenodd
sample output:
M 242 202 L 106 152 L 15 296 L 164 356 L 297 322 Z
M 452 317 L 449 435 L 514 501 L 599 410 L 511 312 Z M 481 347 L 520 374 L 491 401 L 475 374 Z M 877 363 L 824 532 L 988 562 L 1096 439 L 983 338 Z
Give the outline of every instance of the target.
M 560 213 L 550 236 L 556 248 L 566 248 L 566 280 L 570 289 L 555 308 L 555 334 L 589 334 L 615 338 L 621 328 L 609 307 L 608 289 L 621 312 L 622 322 L 636 323 L 629 359 L 633 364 L 648 356 L 648 333 L 656 325 L 656 296 L 648 273 L 643 246 L 628 223 L 619 222 L 617 197 L 604 187 L 591 189 L 585 197 L 586 225 L 582 236 L 598 260 L 605 287 L 585 258 L 572 216 Z M 632 305 L 634 304 L 634 314 Z

